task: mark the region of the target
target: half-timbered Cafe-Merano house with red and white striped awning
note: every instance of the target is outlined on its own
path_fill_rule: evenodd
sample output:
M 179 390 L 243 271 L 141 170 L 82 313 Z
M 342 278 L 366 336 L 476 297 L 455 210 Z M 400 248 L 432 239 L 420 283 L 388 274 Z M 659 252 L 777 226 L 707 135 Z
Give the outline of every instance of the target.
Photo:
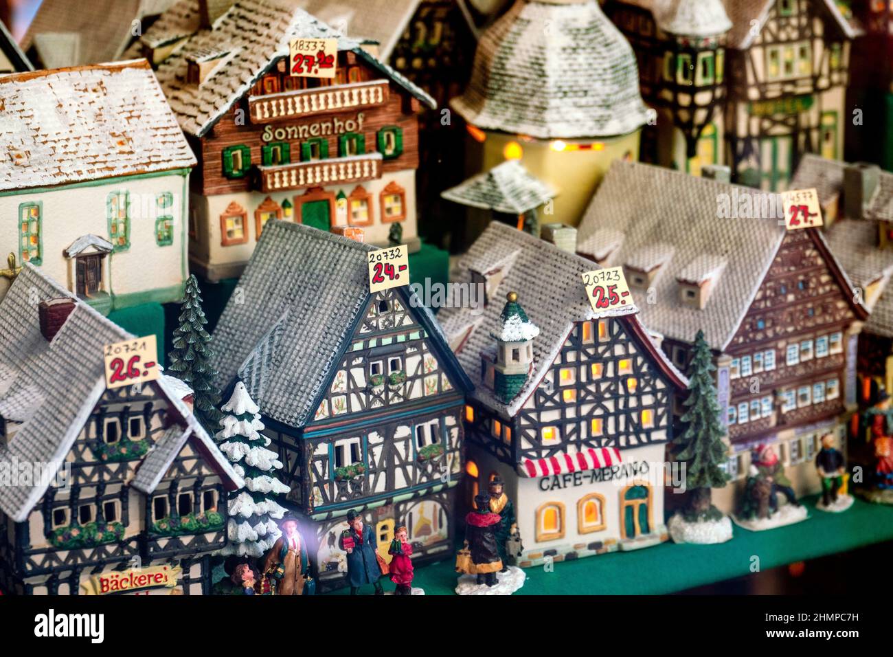
M 635 306 L 593 312 L 580 274 L 594 268 L 493 222 L 458 279 L 483 285 L 486 307 L 438 316 L 475 384 L 465 409 L 466 503 L 503 479 L 522 567 L 666 540 L 664 450 L 672 398 L 688 382 Z

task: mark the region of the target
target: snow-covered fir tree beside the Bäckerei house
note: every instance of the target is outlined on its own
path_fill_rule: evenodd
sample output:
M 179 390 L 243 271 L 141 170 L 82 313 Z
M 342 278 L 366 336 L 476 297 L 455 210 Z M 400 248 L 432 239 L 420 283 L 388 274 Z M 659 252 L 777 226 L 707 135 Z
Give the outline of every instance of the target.
M 276 539 L 280 529 L 275 520 L 282 518 L 286 509 L 277 498 L 290 490 L 272 473 L 281 469 L 282 462 L 275 451 L 268 450 L 270 439 L 263 431 L 260 409 L 239 381 L 230 400 L 221 407 L 226 415 L 217 432 L 220 450 L 230 459 L 238 475 L 245 479 L 245 487 L 230 493 L 227 510 L 227 536 L 230 543 L 221 554 L 262 557 Z

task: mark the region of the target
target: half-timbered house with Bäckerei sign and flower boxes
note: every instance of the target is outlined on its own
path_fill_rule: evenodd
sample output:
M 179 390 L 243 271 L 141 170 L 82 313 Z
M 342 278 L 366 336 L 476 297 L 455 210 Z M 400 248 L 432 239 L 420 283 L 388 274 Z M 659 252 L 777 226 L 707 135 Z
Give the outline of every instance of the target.
M 210 593 L 243 483 L 181 386 L 106 389 L 103 347 L 130 338 L 30 264 L 0 302 L 4 594 Z

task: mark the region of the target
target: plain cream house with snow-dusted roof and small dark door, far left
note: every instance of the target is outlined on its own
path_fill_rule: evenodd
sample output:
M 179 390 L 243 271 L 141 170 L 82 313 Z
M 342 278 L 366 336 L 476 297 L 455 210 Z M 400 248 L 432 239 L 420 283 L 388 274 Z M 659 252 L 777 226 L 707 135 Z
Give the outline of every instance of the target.
M 0 98 L 0 251 L 103 314 L 178 300 L 196 158 L 148 63 L 4 75 Z

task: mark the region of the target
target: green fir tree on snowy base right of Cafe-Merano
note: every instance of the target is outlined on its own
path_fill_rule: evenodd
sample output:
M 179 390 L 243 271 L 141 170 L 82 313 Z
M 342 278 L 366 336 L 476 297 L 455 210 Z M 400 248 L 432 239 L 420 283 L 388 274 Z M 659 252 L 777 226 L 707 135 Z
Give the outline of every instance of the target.
M 712 488 L 722 488 L 729 476 L 721 466 L 729 458 L 729 448 L 722 438 L 719 404 L 712 373 L 716 367 L 704 332 L 698 331 L 689 368 L 688 408 L 681 420 L 685 431 L 673 444 L 679 448 L 676 459 L 686 465 L 686 487 L 690 495 L 683 511 L 687 522 L 718 520 L 722 512 L 713 505 Z

